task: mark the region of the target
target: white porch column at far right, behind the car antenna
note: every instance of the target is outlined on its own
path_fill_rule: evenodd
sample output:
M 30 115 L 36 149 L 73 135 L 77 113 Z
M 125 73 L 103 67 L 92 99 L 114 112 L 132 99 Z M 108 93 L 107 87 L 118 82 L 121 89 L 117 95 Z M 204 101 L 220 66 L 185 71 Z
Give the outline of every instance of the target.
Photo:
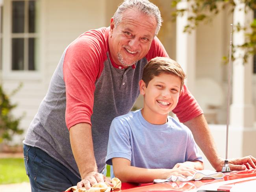
M 252 11 L 245 13 L 245 4 L 235 0 L 234 26 L 249 27 L 253 19 Z M 233 44 L 241 45 L 245 42 L 247 31 L 234 31 Z M 252 127 L 254 123 L 254 106 L 252 104 L 252 57 L 245 63 L 244 51 L 236 49 L 233 62 L 232 105 L 230 107 L 230 124 L 234 127 Z

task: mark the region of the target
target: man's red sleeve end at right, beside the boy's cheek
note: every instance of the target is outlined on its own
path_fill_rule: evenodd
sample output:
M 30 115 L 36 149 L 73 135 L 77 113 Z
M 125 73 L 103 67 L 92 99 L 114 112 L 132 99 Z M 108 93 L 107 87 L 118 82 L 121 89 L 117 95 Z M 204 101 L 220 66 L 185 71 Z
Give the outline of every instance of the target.
M 186 85 L 182 88 L 182 93 L 177 106 L 173 109 L 173 113 L 176 114 L 181 123 L 187 122 L 203 113 L 201 107 L 189 92 Z

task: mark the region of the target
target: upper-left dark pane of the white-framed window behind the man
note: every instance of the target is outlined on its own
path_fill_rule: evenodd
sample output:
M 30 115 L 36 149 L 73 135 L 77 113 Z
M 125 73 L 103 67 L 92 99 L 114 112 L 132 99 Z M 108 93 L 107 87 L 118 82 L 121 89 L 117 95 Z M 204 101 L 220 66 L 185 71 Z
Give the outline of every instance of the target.
M 24 33 L 24 1 L 13 1 L 13 33 Z

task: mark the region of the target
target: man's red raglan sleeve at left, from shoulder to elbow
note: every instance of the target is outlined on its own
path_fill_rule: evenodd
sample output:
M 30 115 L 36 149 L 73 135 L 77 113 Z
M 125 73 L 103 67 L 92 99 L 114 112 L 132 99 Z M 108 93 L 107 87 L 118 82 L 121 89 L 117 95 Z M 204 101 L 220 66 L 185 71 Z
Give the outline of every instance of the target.
M 95 81 L 100 76 L 106 59 L 104 43 L 95 39 L 97 38 L 90 35 L 79 37 L 70 44 L 65 54 L 63 76 L 68 129 L 82 122 L 91 124 Z

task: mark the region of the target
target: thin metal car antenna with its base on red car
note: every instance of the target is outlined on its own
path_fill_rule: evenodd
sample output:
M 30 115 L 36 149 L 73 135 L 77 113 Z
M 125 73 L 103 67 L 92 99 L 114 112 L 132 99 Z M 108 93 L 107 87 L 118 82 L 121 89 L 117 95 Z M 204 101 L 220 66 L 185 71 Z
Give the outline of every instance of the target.
M 227 105 L 227 124 L 226 124 L 226 159 L 221 172 L 231 172 L 228 164 L 228 124 L 229 124 L 229 103 L 230 103 L 230 84 L 231 84 L 231 63 L 232 63 L 232 33 L 233 24 L 230 24 L 230 44 L 229 44 L 229 64 L 228 64 L 228 105 Z

